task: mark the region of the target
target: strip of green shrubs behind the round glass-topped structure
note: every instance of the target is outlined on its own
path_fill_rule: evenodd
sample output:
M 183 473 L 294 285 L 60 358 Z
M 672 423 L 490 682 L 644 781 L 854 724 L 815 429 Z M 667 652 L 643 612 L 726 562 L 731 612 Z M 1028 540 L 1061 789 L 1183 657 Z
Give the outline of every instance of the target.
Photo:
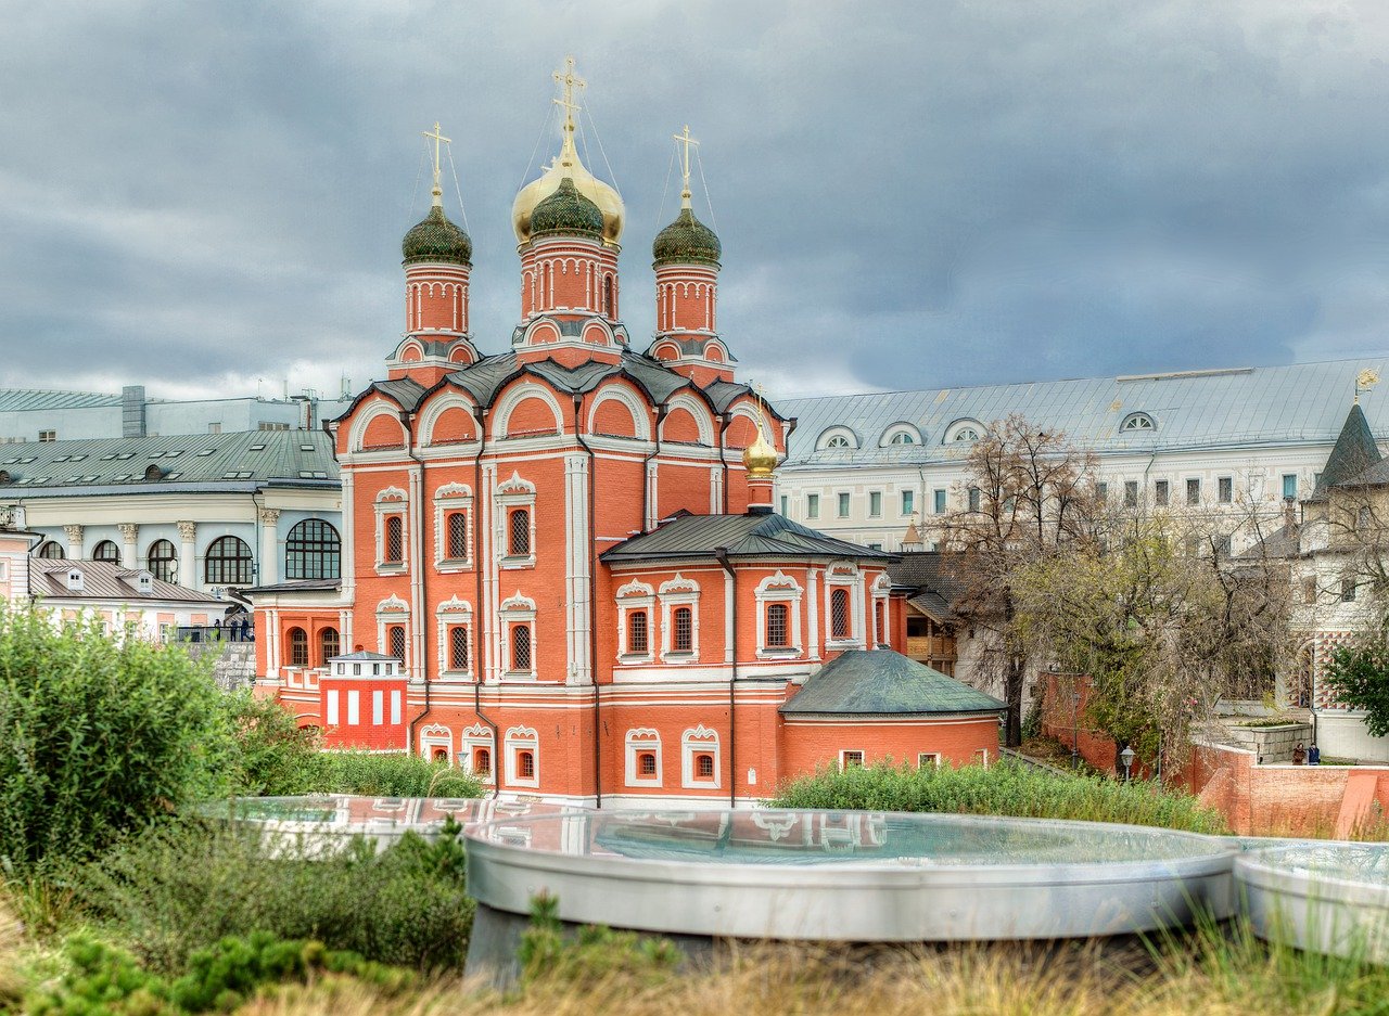
M 1220 812 L 1195 797 L 1150 783 L 1095 776 L 1061 776 L 999 762 L 982 766 L 911 769 L 881 763 L 843 772 L 824 769 L 785 786 L 775 808 L 867 809 L 1015 815 L 1161 826 L 1193 833 L 1228 833 Z

